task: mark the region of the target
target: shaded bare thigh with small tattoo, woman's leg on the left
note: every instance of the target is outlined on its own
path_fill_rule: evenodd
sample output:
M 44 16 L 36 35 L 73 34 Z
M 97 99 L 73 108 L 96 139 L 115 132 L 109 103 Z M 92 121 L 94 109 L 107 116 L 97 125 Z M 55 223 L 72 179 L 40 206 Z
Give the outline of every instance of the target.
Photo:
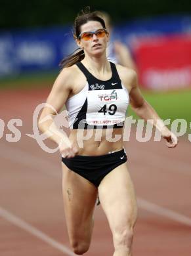
M 90 242 L 97 188 L 62 163 L 62 193 L 70 242 Z

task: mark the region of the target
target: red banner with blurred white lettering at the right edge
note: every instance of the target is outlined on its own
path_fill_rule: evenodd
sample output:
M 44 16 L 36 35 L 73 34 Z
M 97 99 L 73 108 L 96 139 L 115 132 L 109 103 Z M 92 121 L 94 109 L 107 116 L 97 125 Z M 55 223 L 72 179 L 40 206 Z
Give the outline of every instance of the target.
M 138 43 L 135 50 L 139 83 L 154 90 L 191 85 L 191 37 L 155 37 Z

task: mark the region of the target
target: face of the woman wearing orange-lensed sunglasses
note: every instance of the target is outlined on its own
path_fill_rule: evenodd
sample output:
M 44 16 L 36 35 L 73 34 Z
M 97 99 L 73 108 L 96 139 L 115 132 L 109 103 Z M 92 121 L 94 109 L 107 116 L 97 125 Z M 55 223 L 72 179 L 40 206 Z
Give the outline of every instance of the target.
M 83 32 L 95 32 L 102 29 L 102 25 L 97 21 L 89 21 L 81 26 L 81 33 Z M 101 56 L 106 52 L 109 35 L 106 33 L 104 37 L 98 37 L 93 34 L 93 37 L 89 41 L 85 41 L 83 38 L 77 39 L 77 45 L 81 47 L 85 53 L 91 56 Z

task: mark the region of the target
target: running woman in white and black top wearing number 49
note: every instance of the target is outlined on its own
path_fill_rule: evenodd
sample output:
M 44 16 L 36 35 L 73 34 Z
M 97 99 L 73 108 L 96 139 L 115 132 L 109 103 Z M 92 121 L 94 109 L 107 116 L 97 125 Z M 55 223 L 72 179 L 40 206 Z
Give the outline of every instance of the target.
M 62 61 L 47 99 L 57 112 L 66 106 L 70 135 L 56 127 L 53 108 L 43 109 L 39 128 L 59 145 L 62 155 L 64 211 L 74 253 L 89 249 L 99 194 L 112 230 L 114 256 L 129 256 L 137 203 L 120 137 L 127 106 L 130 103 L 142 119 L 153 119 L 170 148 L 177 145 L 177 137 L 163 121 L 157 122 L 158 115 L 140 94 L 135 71 L 107 60 L 104 20 L 95 12 L 82 12 L 74 29 L 79 50 Z M 41 122 L 48 116 L 51 121 Z M 83 146 L 79 137 L 85 138 Z M 115 137 L 119 139 L 114 141 Z

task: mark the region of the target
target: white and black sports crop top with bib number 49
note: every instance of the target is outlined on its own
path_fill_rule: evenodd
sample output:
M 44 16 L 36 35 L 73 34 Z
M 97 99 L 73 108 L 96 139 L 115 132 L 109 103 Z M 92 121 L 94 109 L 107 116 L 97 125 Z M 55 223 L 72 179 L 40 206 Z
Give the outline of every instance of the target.
M 68 98 L 71 129 L 121 128 L 129 105 L 129 93 L 122 85 L 116 65 L 110 62 L 112 77 L 102 81 L 94 77 L 81 62 L 76 64 L 87 78 L 85 87 Z

